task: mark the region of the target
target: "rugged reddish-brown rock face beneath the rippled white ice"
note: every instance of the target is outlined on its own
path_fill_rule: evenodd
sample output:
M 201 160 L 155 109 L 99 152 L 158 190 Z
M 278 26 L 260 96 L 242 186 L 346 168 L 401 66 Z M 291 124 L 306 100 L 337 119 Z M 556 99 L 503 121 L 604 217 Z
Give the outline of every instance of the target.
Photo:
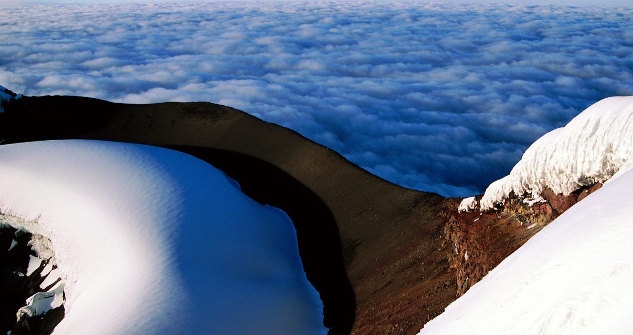
M 453 247 L 449 264 L 456 278 L 456 295 L 466 293 L 530 237 L 601 186 L 585 186 L 567 196 L 546 189 L 544 201 L 532 205 L 512 194 L 498 210 L 483 213 L 459 212 L 453 207 L 457 201 L 447 199 L 450 209 L 442 212 L 444 237 Z

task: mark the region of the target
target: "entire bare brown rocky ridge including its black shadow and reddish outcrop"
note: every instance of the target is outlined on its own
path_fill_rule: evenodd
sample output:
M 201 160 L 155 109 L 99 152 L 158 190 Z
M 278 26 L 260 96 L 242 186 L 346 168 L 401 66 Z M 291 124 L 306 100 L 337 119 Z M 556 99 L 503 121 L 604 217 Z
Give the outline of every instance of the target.
M 6 143 L 85 138 L 171 147 L 283 209 L 332 334 L 419 331 L 558 215 L 549 206 L 527 229 L 520 211 L 534 209 L 522 204 L 458 214 L 458 199 L 394 185 L 294 131 L 206 102 L 25 97 L 5 109 Z

